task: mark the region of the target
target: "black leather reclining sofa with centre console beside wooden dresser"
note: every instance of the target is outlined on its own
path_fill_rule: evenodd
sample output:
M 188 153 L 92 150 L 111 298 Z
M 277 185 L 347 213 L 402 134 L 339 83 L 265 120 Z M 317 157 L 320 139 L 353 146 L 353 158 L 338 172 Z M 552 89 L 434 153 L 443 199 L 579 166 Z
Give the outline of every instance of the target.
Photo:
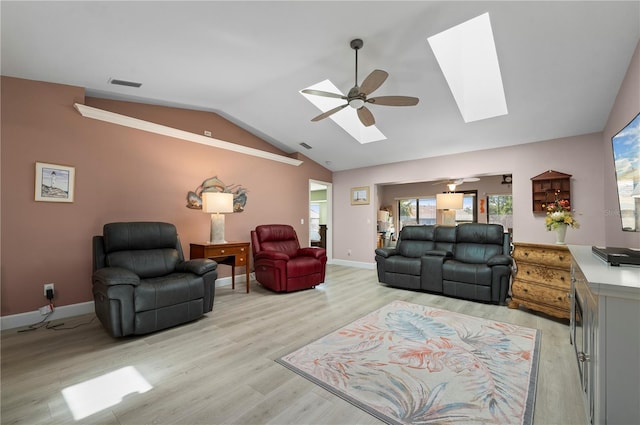
M 499 224 L 405 226 L 395 248 L 376 249 L 378 280 L 389 286 L 505 304 L 513 259 Z

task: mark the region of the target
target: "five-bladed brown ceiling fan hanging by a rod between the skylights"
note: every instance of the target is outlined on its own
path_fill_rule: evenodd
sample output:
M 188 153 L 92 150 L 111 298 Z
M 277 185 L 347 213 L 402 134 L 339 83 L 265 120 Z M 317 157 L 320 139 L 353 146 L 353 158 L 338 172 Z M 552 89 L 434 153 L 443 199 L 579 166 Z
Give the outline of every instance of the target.
M 344 96 L 342 94 L 331 93 L 321 90 L 304 89 L 302 93 L 312 94 L 315 96 L 335 97 L 338 99 L 344 99 L 347 101 L 344 105 L 335 107 L 327 112 L 324 112 L 311 121 L 320 121 L 327 118 L 336 112 L 351 106 L 358 111 L 358 118 L 365 127 L 369 127 L 375 124 L 376 120 L 373 118 L 371 111 L 365 106 L 367 103 L 374 105 L 385 106 L 414 106 L 418 104 L 419 99 L 417 97 L 410 96 L 378 96 L 368 98 L 367 96 L 373 93 L 378 87 L 384 83 L 389 74 L 381 69 L 375 69 L 364 79 L 361 86 L 358 86 L 358 50 L 363 46 L 363 41 L 359 38 L 351 40 L 351 48 L 356 51 L 356 82 L 355 85 L 349 90 L 349 93 Z

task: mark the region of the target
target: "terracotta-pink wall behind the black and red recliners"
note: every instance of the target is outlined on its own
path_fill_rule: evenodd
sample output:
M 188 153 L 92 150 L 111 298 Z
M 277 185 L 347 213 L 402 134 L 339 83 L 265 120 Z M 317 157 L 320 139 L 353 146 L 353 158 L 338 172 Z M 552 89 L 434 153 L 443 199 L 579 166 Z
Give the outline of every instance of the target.
M 188 243 L 208 239 L 209 216 L 186 208 L 186 194 L 218 176 L 246 187 L 242 213 L 226 217 L 226 238 L 249 241 L 263 223 L 289 223 L 308 239 L 309 179 L 331 172 L 300 156 L 296 167 L 82 117 L 84 89 L 2 77 L 2 316 L 45 304 L 54 282 L 56 305 L 92 300 L 91 236 L 111 221 L 174 223 Z M 220 116 L 200 111 L 86 99 L 86 104 L 274 153 L 272 145 Z M 35 162 L 74 166 L 75 202 L 34 201 Z M 221 267 L 221 275 L 228 268 Z

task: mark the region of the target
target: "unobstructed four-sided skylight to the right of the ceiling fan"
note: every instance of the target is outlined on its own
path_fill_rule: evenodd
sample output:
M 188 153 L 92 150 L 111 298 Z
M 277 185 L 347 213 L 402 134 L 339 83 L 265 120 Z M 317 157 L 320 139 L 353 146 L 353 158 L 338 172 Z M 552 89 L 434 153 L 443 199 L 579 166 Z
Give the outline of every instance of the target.
M 465 122 L 508 113 L 488 13 L 428 41 Z

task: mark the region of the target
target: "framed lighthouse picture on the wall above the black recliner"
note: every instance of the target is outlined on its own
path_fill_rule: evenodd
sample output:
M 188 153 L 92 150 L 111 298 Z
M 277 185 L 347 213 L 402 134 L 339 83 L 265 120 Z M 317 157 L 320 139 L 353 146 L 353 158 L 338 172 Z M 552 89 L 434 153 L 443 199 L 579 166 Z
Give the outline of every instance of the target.
M 36 201 L 73 202 L 75 177 L 75 167 L 36 162 Z

